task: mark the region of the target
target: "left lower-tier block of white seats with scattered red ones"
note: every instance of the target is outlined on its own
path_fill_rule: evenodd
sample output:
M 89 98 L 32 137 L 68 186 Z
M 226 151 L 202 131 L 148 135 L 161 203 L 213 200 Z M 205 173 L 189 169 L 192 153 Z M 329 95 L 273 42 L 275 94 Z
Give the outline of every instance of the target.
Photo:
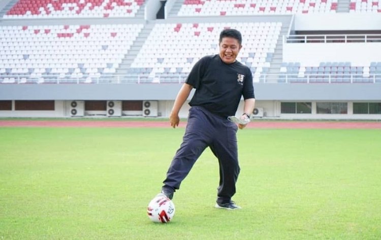
M 3 83 L 97 81 L 115 73 L 142 24 L 0 26 Z M 8 77 L 7 77 L 8 76 Z

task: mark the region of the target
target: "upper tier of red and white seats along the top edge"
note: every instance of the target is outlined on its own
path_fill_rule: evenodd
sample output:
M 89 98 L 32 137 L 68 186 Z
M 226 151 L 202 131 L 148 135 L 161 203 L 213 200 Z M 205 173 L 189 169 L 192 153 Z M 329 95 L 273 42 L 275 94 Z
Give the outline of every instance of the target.
M 3 18 L 135 17 L 144 0 L 19 0 Z M 185 0 L 178 16 L 336 13 L 338 0 Z M 381 12 L 380 0 L 351 0 L 350 12 Z

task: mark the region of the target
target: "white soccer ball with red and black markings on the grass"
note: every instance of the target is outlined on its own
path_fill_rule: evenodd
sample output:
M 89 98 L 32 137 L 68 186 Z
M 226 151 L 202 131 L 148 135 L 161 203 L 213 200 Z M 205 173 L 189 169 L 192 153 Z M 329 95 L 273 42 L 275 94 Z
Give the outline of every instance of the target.
M 164 194 L 155 196 L 148 204 L 147 214 L 152 222 L 168 223 L 175 215 L 175 204 Z

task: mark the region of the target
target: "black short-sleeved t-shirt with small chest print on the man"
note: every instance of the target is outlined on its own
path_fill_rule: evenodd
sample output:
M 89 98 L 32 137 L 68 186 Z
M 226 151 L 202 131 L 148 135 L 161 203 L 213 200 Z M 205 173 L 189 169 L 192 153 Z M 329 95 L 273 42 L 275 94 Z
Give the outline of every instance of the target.
M 254 98 L 250 69 L 239 61 L 227 64 L 218 54 L 201 58 L 186 83 L 196 88 L 190 106 L 202 106 L 221 117 L 235 115 L 241 96 Z

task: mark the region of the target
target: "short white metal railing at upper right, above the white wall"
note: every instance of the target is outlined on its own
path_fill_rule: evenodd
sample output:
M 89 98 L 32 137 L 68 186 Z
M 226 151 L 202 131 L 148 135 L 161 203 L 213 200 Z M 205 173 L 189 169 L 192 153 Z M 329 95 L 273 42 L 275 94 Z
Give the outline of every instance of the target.
M 380 43 L 379 34 L 289 35 L 283 43 Z

